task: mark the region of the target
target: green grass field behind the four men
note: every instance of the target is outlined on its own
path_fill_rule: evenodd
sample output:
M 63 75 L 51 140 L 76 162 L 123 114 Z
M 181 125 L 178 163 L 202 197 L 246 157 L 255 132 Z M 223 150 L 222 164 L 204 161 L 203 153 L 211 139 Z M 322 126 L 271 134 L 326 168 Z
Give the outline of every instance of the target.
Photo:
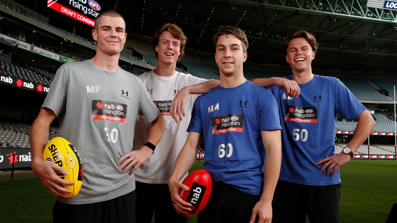
M 200 169 L 203 163 L 196 162 L 191 171 Z M 341 179 L 342 223 L 386 221 L 397 203 L 397 161 L 351 160 L 341 168 Z M 55 196 L 37 177 L 0 181 L 0 192 L 0 222 L 52 222 Z M 191 217 L 189 222 L 197 222 L 197 217 Z

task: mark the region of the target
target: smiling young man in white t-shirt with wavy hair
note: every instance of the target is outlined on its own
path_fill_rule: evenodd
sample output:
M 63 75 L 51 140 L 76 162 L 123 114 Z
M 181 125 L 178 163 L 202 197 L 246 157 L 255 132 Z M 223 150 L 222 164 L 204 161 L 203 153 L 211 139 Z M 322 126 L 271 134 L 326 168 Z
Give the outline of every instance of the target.
M 198 97 L 195 90 L 208 89 L 208 92 L 219 85 L 219 81 L 208 81 L 175 71 L 176 63 L 182 58 L 186 44 L 186 37 L 177 25 L 170 23 L 163 25 L 154 33 L 152 43 L 157 57 L 157 67 L 138 77 L 164 117 L 166 130 L 154 154 L 135 172 L 139 204 L 136 208 L 137 222 L 150 223 L 154 214 L 156 223 L 183 223 L 188 222 L 189 219 L 173 208 L 168 179 L 187 138 L 186 129 L 189 125 L 191 109 Z M 185 95 L 189 96 L 183 101 L 183 108 L 186 106 L 188 117 L 175 123 L 170 113 L 171 105 L 175 99 Z M 138 116 L 134 148 L 143 146 L 150 126 L 141 115 Z M 187 176 L 187 171 L 184 175 Z M 156 200 L 156 205 L 152 205 L 153 200 Z

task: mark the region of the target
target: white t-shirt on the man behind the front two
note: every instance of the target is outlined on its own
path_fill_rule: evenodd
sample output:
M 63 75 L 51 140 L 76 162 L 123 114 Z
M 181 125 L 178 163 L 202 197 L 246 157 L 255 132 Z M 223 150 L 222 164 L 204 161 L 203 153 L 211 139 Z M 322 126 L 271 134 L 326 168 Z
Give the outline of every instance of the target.
M 191 110 L 198 94 L 189 95 L 185 104 L 185 117 L 178 123 L 175 123 L 175 120 L 171 116 L 171 102 L 181 88 L 208 80 L 178 71 L 175 71 L 175 74 L 171 77 L 158 76 L 154 71 L 148 71 L 138 75 L 138 77 L 142 80 L 154 104 L 160 110 L 160 114 L 163 115 L 166 129 L 156 146 L 154 154 L 135 171 L 135 180 L 143 183 L 168 183 L 175 165 L 175 160 L 185 144 Z M 150 127 L 151 123 L 147 123 L 142 115 L 138 115 L 135 124 L 134 149 L 139 150 L 145 144 L 149 136 Z M 187 173 L 183 178 L 186 176 Z

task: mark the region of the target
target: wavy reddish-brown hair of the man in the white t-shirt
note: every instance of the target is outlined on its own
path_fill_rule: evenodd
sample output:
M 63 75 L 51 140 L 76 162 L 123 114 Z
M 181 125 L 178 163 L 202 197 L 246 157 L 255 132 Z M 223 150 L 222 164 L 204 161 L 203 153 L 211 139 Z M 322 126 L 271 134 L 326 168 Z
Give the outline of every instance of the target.
M 154 48 L 154 55 L 156 55 L 156 58 L 158 58 L 158 52 L 156 52 L 156 46 L 158 46 L 158 43 L 160 41 L 160 36 L 165 32 L 168 31 L 171 33 L 173 38 L 181 40 L 181 44 L 179 45 L 179 52 L 181 53 L 178 56 L 178 61 L 181 60 L 183 57 L 183 54 L 185 54 L 185 45 L 186 45 L 186 40 L 187 37 L 185 34 L 183 34 L 183 31 L 179 26 L 171 23 L 166 23 L 164 24 L 161 28 L 158 28 L 156 32 L 154 32 L 153 37 L 152 37 L 152 44 Z

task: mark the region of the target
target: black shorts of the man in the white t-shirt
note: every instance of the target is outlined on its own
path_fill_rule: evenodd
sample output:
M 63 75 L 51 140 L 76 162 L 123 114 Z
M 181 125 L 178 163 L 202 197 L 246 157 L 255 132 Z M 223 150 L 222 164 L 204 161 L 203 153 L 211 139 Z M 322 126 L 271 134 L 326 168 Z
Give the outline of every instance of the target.
M 154 213 L 156 223 L 188 223 L 189 218 L 178 214 L 173 207 L 168 184 L 150 184 L 135 181 L 137 191 L 137 222 L 151 223 Z

